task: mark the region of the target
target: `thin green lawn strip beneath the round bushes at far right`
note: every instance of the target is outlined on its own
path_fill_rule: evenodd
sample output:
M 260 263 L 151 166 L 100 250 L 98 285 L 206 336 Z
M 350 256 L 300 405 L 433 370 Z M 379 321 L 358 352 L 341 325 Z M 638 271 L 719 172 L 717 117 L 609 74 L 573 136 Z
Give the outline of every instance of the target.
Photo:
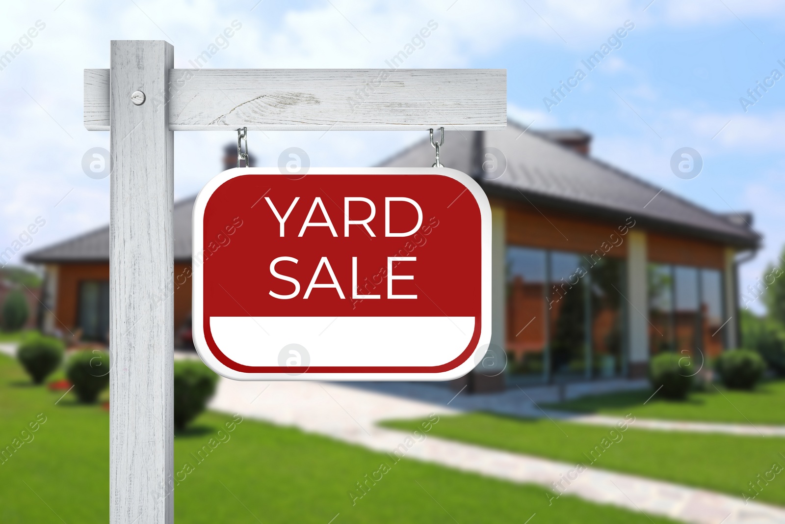
M 667 401 L 655 394 L 644 405 L 653 391 L 637 390 L 584 397 L 548 407 L 621 416 L 633 412 L 645 419 L 785 424 L 785 380 L 763 383 L 754 391 L 717 388 L 709 386 L 707 391 L 694 391 L 687 401 Z

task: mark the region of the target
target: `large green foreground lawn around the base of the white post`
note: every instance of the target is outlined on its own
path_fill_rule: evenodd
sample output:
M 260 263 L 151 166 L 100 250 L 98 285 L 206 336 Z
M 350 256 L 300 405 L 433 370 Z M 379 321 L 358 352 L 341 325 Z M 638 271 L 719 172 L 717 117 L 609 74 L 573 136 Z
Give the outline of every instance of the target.
M 0 465 L 0 522 L 108 522 L 108 412 L 77 405 L 71 394 L 32 387 L 0 355 L 0 445 L 11 444 L 39 413 L 34 439 Z M 42 419 L 43 420 L 43 419 Z M 207 413 L 175 438 L 175 522 L 670 522 L 590 504 L 553 500 L 519 486 L 401 460 L 289 428 L 244 420 L 201 462 L 192 457 L 231 416 Z M 444 419 L 443 419 L 444 420 Z M 438 423 L 434 427 L 439 427 Z M 224 440 L 226 440 L 224 438 Z M 390 470 L 352 506 L 349 490 L 364 475 Z M 40 497 L 40 498 L 39 498 Z M 46 504 L 45 504 L 46 503 Z M 455 520 L 454 520 L 455 519 Z

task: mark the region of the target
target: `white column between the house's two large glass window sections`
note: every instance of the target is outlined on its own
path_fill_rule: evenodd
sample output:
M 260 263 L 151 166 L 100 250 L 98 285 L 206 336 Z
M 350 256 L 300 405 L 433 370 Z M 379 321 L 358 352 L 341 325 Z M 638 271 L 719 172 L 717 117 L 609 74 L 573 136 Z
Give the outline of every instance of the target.
M 648 362 L 648 276 L 646 232 L 627 233 L 627 321 L 630 374 L 641 376 Z

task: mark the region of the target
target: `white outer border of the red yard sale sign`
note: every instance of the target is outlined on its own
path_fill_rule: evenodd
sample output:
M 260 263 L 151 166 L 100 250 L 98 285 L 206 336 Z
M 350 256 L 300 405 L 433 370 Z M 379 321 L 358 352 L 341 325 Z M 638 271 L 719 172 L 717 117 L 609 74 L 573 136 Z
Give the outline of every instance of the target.
M 229 368 L 214 356 L 210 346 L 208 346 L 204 336 L 204 273 L 203 262 L 196 262 L 196 255 L 203 251 L 204 233 L 204 211 L 207 202 L 213 193 L 226 181 L 246 174 L 276 174 L 281 177 L 277 167 L 233 167 L 225 170 L 221 174 L 212 178 L 204 185 L 199 195 L 196 196 L 192 215 L 192 335 L 197 354 L 202 361 L 218 375 L 235 380 L 340 380 L 340 381 L 361 381 L 361 380 L 451 380 L 457 379 L 470 372 L 480 359 L 484 357 L 480 354 L 481 348 L 487 348 L 491 343 L 491 205 L 488 203 L 487 196 L 480 185 L 461 171 L 447 167 L 318 167 L 311 168 L 305 176 L 319 176 L 322 174 L 440 174 L 453 178 L 461 182 L 469 190 L 480 207 L 480 288 L 481 288 L 481 310 L 480 310 L 480 339 L 473 350 L 473 353 L 455 368 L 445 372 L 357 372 L 357 373 L 301 373 L 298 375 L 280 373 L 246 373 Z M 289 175 L 290 176 L 290 175 Z M 392 366 L 391 366 L 392 367 Z

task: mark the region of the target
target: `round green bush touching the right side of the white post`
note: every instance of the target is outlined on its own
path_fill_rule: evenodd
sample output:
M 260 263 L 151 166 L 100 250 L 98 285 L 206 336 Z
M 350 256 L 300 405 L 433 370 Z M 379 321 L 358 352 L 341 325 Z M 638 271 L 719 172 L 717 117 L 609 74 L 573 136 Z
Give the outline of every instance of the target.
M 199 361 L 174 363 L 174 427 L 183 429 L 203 412 L 218 376 Z

